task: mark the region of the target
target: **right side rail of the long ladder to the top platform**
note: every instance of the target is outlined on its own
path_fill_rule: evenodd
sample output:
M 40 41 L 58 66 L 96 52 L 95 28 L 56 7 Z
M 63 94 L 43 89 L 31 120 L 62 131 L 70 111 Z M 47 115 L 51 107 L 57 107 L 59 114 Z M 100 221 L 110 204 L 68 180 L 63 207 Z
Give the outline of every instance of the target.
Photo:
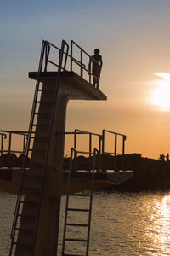
M 57 102 L 57 96 L 58 96 L 58 91 L 59 91 L 59 76 L 60 76 L 60 73 L 61 73 L 61 67 L 62 67 L 62 61 L 63 61 L 63 52 L 64 52 L 64 49 L 65 49 L 65 45 L 66 45 L 67 48 L 69 48 L 69 45 L 65 42 L 65 40 L 62 40 L 61 55 L 59 56 L 59 68 L 58 68 L 58 74 L 57 74 L 57 79 L 56 79 L 56 87 L 55 87 L 55 91 L 54 91 L 54 103 L 53 103 L 53 107 L 52 107 L 52 113 L 51 113 L 49 130 L 48 130 L 48 143 L 47 143 L 47 148 L 46 148 L 46 153 L 45 153 L 45 158 L 44 158 L 44 165 L 42 166 L 42 178 L 41 178 L 41 185 L 40 185 L 40 193 L 39 193 L 39 200 L 38 200 L 38 206 L 37 206 L 35 226 L 34 226 L 34 231 L 33 231 L 33 237 L 34 238 L 35 238 L 36 233 L 37 233 L 37 224 L 38 224 L 39 212 L 40 212 L 41 201 L 42 201 L 42 186 L 43 186 L 45 171 L 47 169 L 47 164 L 48 164 L 48 151 L 49 151 L 48 149 L 50 147 L 50 137 L 51 137 L 53 123 L 54 123 L 54 110 L 55 110 L 55 105 L 56 105 L 56 102 Z

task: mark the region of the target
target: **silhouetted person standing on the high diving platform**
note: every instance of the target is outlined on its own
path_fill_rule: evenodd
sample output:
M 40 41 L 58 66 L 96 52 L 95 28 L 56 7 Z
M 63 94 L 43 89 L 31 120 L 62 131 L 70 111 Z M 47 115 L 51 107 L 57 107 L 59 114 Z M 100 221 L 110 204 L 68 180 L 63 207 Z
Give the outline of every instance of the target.
M 92 64 L 92 74 L 94 79 L 94 87 L 99 89 L 99 78 L 101 73 L 101 68 L 103 65 L 102 56 L 99 55 L 99 49 L 94 49 L 94 55 L 92 56 L 94 61 L 91 59 L 88 65 L 88 72 L 91 73 L 91 64 Z M 99 63 L 96 63 L 96 61 Z

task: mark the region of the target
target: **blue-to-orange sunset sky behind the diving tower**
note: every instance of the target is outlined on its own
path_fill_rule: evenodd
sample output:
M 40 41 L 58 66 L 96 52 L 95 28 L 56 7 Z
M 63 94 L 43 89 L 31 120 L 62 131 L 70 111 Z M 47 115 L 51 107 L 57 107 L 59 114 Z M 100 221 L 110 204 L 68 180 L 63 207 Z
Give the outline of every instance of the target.
M 69 102 L 66 131 L 127 135 L 126 153 L 170 153 L 169 0 L 7 0 L 0 9 L 0 130 L 27 131 L 42 40 L 103 57 L 106 102 Z

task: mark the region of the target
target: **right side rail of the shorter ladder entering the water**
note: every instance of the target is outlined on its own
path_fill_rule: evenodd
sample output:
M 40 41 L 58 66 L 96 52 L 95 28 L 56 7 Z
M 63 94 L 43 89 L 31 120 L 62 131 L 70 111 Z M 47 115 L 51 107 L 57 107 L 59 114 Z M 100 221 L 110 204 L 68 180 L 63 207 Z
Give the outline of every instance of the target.
M 89 203 L 89 218 L 88 218 L 88 240 L 86 247 L 86 256 L 88 256 L 89 251 L 89 240 L 90 240 L 90 226 L 92 219 L 92 204 L 93 204 L 93 195 L 94 195 L 94 170 L 96 165 L 96 154 L 99 154 L 99 150 L 94 148 L 94 156 L 93 156 L 93 166 L 92 166 L 92 179 L 91 179 L 91 189 L 90 189 L 90 203 Z

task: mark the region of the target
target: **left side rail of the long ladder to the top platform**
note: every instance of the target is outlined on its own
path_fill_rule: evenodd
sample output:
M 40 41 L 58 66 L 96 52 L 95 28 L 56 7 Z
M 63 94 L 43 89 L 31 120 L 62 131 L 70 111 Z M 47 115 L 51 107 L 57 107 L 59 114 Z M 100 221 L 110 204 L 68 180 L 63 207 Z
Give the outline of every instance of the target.
M 32 110 L 31 110 L 31 121 L 30 121 L 30 125 L 29 125 L 29 132 L 28 132 L 28 138 L 27 138 L 27 143 L 26 143 L 26 155 L 28 155 L 28 153 L 29 153 L 29 147 L 30 147 L 30 143 L 31 143 L 32 123 L 33 123 L 34 113 L 35 113 L 35 109 L 36 109 L 37 91 L 38 91 L 38 87 L 39 87 L 39 83 L 40 83 L 40 73 L 42 72 L 44 49 L 45 49 L 45 43 L 44 43 L 44 41 L 42 41 L 42 50 L 41 50 L 41 55 L 40 55 L 39 67 L 38 67 L 36 90 L 35 90 L 35 94 L 34 94 L 33 106 L 32 106 Z M 11 235 L 10 235 L 12 241 L 11 241 L 9 256 L 12 255 L 12 251 L 13 251 L 15 229 L 16 229 L 16 225 L 17 225 L 18 214 L 20 211 L 20 199 L 21 199 L 22 187 L 23 187 L 23 183 L 24 183 L 26 155 L 23 159 L 23 163 L 22 163 L 22 167 L 21 167 L 20 188 L 19 188 L 19 194 L 18 194 L 17 200 L 16 200 L 16 207 L 14 210 L 14 220 L 13 220 L 12 230 L 11 230 Z

